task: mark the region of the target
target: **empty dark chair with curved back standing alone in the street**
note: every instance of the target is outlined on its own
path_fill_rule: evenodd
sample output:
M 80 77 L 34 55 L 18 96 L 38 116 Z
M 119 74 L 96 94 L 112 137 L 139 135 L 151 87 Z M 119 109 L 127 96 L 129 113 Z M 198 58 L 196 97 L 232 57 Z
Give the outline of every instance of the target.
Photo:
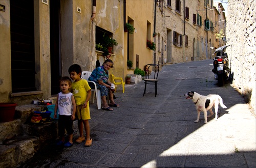
M 144 83 L 145 83 L 145 88 L 144 88 L 144 93 L 143 96 L 146 93 L 146 85 L 155 85 L 155 97 L 157 97 L 157 82 L 158 82 L 158 72 L 159 72 L 159 66 L 156 64 L 147 64 L 144 66 L 144 71 L 145 71 L 145 78 Z

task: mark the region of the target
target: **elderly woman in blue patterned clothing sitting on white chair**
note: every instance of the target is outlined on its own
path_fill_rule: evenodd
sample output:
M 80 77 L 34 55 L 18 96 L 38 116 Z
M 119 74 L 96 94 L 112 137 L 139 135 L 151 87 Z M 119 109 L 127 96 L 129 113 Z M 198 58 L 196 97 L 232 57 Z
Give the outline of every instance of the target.
M 88 78 L 90 81 L 96 83 L 97 89 L 100 90 L 100 96 L 103 103 L 102 109 L 112 111 L 112 107 L 119 107 L 114 101 L 114 89 L 112 89 L 113 84 L 109 81 L 109 69 L 114 65 L 112 60 L 105 60 L 102 66 L 95 68 Z M 90 85 L 90 82 L 89 82 Z M 94 89 L 94 85 L 90 85 Z M 110 104 L 106 102 L 106 96 L 110 96 Z

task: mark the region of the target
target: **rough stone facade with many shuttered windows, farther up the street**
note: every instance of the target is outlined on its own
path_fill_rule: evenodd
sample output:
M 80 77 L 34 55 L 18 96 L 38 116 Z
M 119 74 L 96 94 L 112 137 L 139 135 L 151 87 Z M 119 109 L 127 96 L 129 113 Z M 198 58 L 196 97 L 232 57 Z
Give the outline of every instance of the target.
M 217 6 L 217 7 L 216 7 Z M 218 48 L 219 17 L 224 9 L 213 1 L 160 1 L 156 10 L 156 58 L 165 63 L 210 59 Z M 154 56 L 155 56 L 154 55 Z

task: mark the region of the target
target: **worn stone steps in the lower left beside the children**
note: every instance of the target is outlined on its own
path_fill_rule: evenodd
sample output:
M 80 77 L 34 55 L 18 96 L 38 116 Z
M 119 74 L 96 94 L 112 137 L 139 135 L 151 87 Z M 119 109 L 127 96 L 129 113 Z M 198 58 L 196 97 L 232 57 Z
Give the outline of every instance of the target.
M 15 167 L 56 139 L 56 120 L 43 125 L 30 123 L 34 111 L 44 108 L 44 105 L 16 106 L 15 119 L 0 123 L 0 167 Z

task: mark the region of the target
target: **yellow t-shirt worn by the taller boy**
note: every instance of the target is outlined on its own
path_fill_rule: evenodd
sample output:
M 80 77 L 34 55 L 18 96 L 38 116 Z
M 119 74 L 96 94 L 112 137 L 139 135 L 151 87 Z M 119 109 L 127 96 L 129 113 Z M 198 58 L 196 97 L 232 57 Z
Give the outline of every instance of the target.
M 80 105 L 86 102 L 87 92 L 89 90 L 91 90 L 91 88 L 86 79 L 81 79 L 79 81 L 74 81 L 72 83 L 71 92 L 74 95 L 76 105 Z M 88 105 L 89 105 L 89 101 L 88 101 Z

